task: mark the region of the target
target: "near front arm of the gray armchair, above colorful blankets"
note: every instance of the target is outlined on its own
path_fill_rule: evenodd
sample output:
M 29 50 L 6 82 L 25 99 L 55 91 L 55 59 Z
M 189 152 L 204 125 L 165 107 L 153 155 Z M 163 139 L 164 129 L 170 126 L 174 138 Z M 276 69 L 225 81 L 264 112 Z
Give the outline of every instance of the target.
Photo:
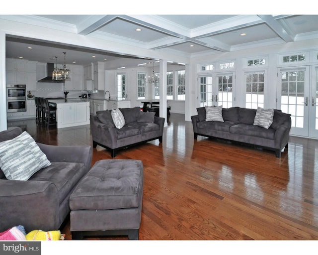
M 58 190 L 49 181 L 0 180 L 0 232 L 23 225 L 26 232 L 58 229 Z

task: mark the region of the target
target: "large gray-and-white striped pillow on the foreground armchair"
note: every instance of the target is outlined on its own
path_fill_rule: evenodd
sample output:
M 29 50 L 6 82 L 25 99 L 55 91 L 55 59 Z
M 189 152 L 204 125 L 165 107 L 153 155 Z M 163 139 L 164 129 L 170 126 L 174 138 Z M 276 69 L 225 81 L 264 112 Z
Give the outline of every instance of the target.
M 51 162 L 26 131 L 0 142 L 0 167 L 8 180 L 28 180 L 49 165 Z

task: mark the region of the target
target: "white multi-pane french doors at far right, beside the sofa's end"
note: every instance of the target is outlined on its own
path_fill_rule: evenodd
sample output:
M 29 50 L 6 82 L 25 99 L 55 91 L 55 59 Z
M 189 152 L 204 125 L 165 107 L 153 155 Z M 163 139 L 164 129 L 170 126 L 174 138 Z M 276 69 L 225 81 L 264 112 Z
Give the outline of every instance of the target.
M 279 68 L 277 108 L 291 114 L 290 134 L 318 138 L 318 66 Z

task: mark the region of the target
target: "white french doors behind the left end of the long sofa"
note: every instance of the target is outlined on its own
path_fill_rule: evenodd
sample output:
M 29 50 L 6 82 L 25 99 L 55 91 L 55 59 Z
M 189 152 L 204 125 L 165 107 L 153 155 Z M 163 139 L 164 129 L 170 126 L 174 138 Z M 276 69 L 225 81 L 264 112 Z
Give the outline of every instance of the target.
M 220 73 L 199 76 L 200 107 L 233 105 L 234 73 Z

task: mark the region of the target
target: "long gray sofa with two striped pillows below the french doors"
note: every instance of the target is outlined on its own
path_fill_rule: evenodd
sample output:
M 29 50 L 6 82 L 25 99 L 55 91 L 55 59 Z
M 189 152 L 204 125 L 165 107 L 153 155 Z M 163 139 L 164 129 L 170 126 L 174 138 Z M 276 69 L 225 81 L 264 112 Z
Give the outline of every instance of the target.
M 254 124 L 255 109 L 233 107 L 222 109 L 221 121 L 206 121 L 205 107 L 197 108 L 198 115 L 191 116 L 194 138 L 198 135 L 221 138 L 252 145 L 259 148 L 274 150 L 277 157 L 288 145 L 291 128 L 290 114 L 274 110 L 273 122 L 269 128 Z

